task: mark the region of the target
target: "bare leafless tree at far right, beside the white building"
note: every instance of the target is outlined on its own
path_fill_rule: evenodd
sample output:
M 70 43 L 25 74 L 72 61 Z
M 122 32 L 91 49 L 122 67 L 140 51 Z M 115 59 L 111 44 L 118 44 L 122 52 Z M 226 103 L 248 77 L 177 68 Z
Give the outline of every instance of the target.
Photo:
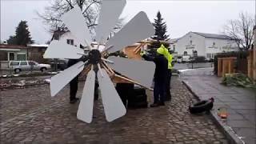
M 230 20 L 224 26 L 224 34 L 234 39 L 239 50 L 249 50 L 253 43 L 255 19 L 247 13 L 240 13 L 239 18 Z

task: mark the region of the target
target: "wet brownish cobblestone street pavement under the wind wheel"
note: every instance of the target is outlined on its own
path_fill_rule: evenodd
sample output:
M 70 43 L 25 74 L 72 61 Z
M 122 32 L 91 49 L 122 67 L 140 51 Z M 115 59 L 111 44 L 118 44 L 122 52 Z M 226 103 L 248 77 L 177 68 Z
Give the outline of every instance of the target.
M 209 115 L 191 115 L 194 96 L 178 77 L 172 80 L 173 101 L 157 108 L 127 110 L 106 122 L 102 102 L 94 104 L 94 120 L 78 121 L 68 86 L 50 98 L 49 86 L 0 91 L 1 143 L 227 143 Z M 82 94 L 82 83 L 78 96 Z M 152 92 L 147 92 L 152 97 Z M 152 99 L 152 98 L 150 98 Z

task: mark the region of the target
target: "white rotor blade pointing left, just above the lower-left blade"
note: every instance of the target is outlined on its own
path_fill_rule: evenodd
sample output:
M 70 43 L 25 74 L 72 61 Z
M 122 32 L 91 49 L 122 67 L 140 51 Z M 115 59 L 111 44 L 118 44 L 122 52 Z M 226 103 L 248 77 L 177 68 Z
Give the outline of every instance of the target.
M 50 42 L 45 54 L 43 54 L 43 58 L 78 59 L 82 57 L 81 54 L 84 54 L 82 49 L 68 45 L 66 42 L 54 40 Z

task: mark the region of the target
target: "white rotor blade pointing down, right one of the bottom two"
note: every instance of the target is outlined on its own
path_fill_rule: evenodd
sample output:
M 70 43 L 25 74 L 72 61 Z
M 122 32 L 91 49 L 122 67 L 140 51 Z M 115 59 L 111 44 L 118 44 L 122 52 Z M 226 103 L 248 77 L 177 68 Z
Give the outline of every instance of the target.
M 106 114 L 106 121 L 112 122 L 126 114 L 126 107 L 123 105 L 106 70 L 102 69 L 102 74 L 100 70 L 98 70 L 97 76 L 101 90 L 102 103 Z

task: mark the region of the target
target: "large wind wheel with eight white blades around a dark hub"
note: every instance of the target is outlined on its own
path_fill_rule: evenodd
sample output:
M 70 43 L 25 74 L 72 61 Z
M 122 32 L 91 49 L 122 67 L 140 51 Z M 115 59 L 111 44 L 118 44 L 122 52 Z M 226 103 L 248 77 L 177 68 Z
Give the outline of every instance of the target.
M 124 47 L 139 42 L 154 35 L 154 27 L 144 12 L 139 12 L 119 30 L 113 38 L 107 41 L 110 31 L 114 28 L 122 13 L 126 0 L 103 0 L 101 13 L 96 27 L 96 41 L 98 46 L 92 47 L 89 30 L 86 26 L 86 20 L 78 6 L 62 15 L 62 22 L 70 30 L 71 34 L 78 42 L 85 47 L 89 47 L 89 59 L 86 62 L 78 62 L 63 70 L 60 74 L 54 75 L 50 80 L 50 94 L 54 97 L 64 86 L 66 86 L 74 77 L 76 77 L 85 66 L 92 66 L 87 74 L 85 86 L 82 92 L 82 98 L 78 106 L 77 118 L 83 122 L 92 122 L 94 107 L 94 82 L 96 74 L 93 66 L 98 66 L 98 83 L 101 90 L 102 103 L 106 114 L 106 121 L 112 122 L 126 114 L 126 107 L 123 105 L 118 92 L 114 88 L 106 69 L 101 66 L 103 63 L 110 63 L 110 67 L 118 73 L 139 82 L 143 86 L 151 86 L 154 77 L 154 62 L 138 61 L 128 58 L 114 57 L 111 59 L 102 58 L 104 52 L 116 52 Z M 99 50 L 99 46 L 105 46 Z M 65 42 L 52 41 L 48 46 L 44 58 L 68 58 L 79 59 L 86 55 L 84 50 L 70 46 Z M 106 68 L 106 67 L 105 67 Z

